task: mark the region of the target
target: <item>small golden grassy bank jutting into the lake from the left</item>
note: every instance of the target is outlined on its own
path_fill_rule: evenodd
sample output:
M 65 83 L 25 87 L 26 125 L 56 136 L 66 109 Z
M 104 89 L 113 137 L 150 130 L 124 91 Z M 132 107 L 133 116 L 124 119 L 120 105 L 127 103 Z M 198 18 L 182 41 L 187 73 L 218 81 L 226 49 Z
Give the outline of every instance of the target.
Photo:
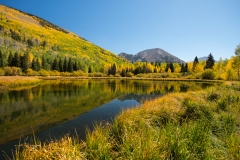
M 41 79 L 36 77 L 0 76 L 0 91 L 23 89 L 24 87 L 37 85 L 41 81 Z

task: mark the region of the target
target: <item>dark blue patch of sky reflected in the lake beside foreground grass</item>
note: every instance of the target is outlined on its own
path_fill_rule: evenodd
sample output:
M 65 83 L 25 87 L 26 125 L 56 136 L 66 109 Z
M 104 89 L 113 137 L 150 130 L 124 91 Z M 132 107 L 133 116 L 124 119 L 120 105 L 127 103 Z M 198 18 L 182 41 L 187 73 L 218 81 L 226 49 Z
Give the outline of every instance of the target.
M 85 128 L 92 129 L 95 122 L 104 121 L 111 122 L 113 117 L 116 116 L 122 109 L 140 105 L 136 100 L 118 100 L 114 99 L 109 103 L 101 105 L 87 113 L 84 113 L 72 120 L 63 122 L 54 126 L 46 131 L 37 134 L 41 140 L 48 139 L 49 135 L 52 138 L 58 138 L 66 133 L 73 136 L 78 133 L 81 139 L 85 139 Z

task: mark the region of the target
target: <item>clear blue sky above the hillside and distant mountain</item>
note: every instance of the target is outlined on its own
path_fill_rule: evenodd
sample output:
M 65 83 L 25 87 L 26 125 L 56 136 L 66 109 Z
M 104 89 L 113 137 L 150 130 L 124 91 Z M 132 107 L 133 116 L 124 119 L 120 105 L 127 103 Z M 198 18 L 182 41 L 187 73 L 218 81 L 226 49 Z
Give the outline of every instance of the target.
M 184 61 L 230 58 L 240 43 L 240 0 L 1 0 L 110 50 L 162 48 Z

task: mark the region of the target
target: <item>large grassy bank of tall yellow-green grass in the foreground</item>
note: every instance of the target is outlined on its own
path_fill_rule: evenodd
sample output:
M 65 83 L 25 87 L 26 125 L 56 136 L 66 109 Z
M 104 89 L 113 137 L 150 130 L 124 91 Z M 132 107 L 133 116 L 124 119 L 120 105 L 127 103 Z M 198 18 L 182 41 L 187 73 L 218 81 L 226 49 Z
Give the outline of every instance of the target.
M 16 159 L 240 159 L 239 84 L 172 93 L 98 124 L 86 141 L 24 144 Z

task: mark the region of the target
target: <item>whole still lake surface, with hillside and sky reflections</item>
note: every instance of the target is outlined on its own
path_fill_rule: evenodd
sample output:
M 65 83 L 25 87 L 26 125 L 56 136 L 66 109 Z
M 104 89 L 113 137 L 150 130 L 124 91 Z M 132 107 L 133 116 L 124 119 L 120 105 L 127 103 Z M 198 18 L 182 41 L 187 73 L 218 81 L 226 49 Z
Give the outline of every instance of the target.
M 169 92 L 206 88 L 208 83 L 142 80 L 45 80 L 39 86 L 0 93 L 0 151 L 10 153 L 19 138 L 34 132 L 41 141 L 64 134 L 85 138 L 86 127 L 111 120 Z M 22 138 L 24 139 L 24 138 Z M 2 155 L 2 153 L 0 153 Z M 0 157 L 1 159 L 1 157 Z

